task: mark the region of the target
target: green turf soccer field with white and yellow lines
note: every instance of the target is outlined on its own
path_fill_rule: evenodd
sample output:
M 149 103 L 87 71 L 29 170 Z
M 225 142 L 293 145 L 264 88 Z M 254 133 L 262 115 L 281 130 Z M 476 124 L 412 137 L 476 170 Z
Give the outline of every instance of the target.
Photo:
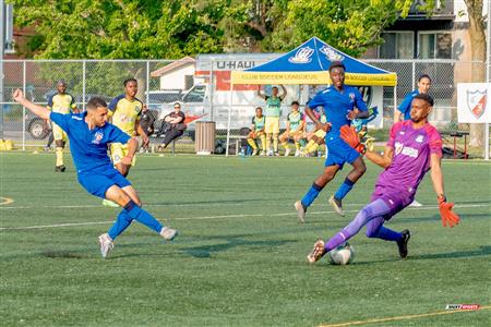
M 172 243 L 133 225 L 107 259 L 97 237 L 116 208 L 76 182 L 52 154 L 0 153 L 0 314 L 3 326 L 491 326 L 491 165 L 443 162 L 447 198 L 462 223 L 440 221 L 429 174 L 417 199 L 387 226 L 409 229 L 409 257 L 367 239 L 348 266 L 309 265 L 370 197 L 379 167 L 346 197 L 328 196 L 298 222 L 294 202 L 321 172 L 320 158 L 145 155 L 130 180 L 148 211 L 180 231 Z M 448 311 L 447 304 L 479 304 Z

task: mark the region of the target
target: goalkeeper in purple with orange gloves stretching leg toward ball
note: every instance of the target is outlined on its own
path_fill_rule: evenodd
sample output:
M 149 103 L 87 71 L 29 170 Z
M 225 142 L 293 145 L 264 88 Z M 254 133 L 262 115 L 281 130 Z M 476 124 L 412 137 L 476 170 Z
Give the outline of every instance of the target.
M 429 95 L 415 96 L 411 104 L 411 119 L 392 126 L 384 155 L 370 150 L 366 153 L 369 160 L 385 169 L 379 175 L 371 202 L 332 239 L 315 242 L 307 257 L 311 264 L 352 238 L 363 226 L 367 226 L 368 238 L 396 242 L 400 257 L 406 258 L 409 230 L 397 232 L 383 225 L 412 202 L 419 183 L 430 169 L 443 226 L 454 227 L 459 222 L 459 217 L 452 210 L 454 204 L 447 203 L 444 195 L 441 169 L 442 138 L 436 129 L 428 123 L 432 106 L 433 99 Z M 348 136 L 348 133 L 342 133 L 344 134 L 342 137 L 352 147 L 363 152 L 355 130 L 349 130 L 352 134 Z

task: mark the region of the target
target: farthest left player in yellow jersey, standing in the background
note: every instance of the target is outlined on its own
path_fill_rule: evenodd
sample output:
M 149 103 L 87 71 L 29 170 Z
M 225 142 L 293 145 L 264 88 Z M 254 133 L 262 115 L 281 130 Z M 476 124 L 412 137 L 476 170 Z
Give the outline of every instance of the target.
M 76 105 L 73 97 L 67 93 L 67 83 L 59 81 L 57 83 L 57 94 L 48 99 L 48 109 L 58 113 L 70 113 L 71 111 L 77 113 Z M 63 172 L 65 170 L 63 162 L 63 148 L 67 143 L 67 133 L 56 123 L 52 123 L 52 135 L 55 137 L 57 164 L 55 165 L 56 172 Z

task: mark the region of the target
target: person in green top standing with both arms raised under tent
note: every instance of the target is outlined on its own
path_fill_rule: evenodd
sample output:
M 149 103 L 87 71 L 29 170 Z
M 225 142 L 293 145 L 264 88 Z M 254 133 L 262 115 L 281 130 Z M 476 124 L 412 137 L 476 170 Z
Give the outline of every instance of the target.
M 287 95 L 285 86 L 280 85 L 283 94 L 278 96 L 278 87 L 273 86 L 272 95 L 267 96 L 261 94 L 261 87 L 258 88 L 258 96 L 262 97 L 266 101 L 266 111 L 264 116 L 266 117 L 264 131 L 266 132 L 266 153 L 271 155 L 271 140 L 273 137 L 273 153 L 275 156 L 278 154 L 278 135 L 279 135 L 279 117 L 282 116 L 282 101 Z

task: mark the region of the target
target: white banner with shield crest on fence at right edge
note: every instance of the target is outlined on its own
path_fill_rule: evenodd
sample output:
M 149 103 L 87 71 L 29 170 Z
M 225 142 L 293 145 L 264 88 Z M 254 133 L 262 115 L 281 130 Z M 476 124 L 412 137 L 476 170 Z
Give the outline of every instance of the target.
M 457 117 L 459 123 L 490 123 L 491 83 L 458 83 Z

